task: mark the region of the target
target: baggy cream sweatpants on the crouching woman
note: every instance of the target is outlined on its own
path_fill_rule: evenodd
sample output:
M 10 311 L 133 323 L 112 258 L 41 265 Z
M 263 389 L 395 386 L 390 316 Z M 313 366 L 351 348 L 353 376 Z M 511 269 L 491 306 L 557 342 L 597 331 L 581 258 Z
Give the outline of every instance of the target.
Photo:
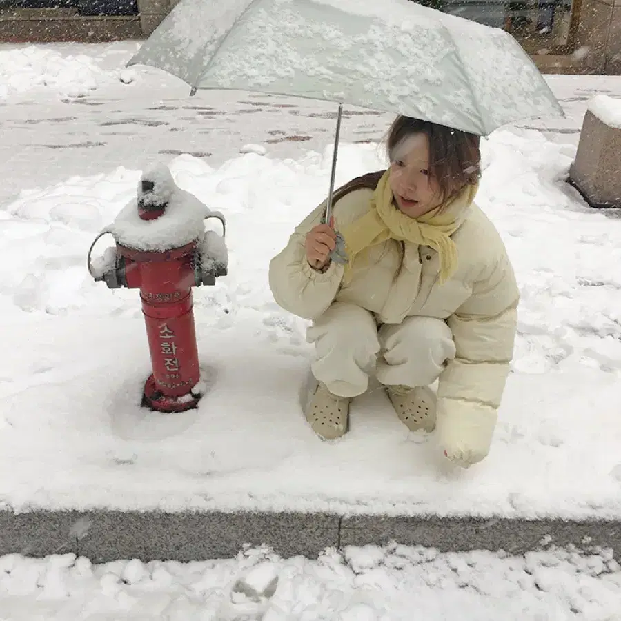
M 315 379 L 339 397 L 362 395 L 373 371 L 385 386 L 427 386 L 455 357 L 453 334 L 442 319 L 406 317 L 378 330 L 373 313 L 344 302 L 333 302 L 313 322 L 307 340 L 317 351 Z

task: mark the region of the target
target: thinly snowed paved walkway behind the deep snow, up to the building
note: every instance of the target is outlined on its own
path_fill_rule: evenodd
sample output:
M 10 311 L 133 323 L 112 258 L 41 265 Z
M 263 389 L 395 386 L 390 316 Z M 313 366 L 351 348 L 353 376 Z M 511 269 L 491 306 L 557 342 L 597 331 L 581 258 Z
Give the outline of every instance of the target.
M 336 108 L 322 101 L 200 92 L 150 68 L 123 69 L 137 43 L 34 47 L 0 45 L 0 161 L 7 167 L 0 203 L 23 188 L 77 175 L 139 170 L 181 153 L 220 166 L 244 144 L 298 159 L 333 139 Z M 595 94 L 621 97 L 610 76 L 547 76 L 566 119 L 529 121 L 544 137 L 578 144 L 586 104 Z M 346 108 L 342 139 L 377 141 L 390 115 Z M 33 164 L 36 163 L 36 167 Z

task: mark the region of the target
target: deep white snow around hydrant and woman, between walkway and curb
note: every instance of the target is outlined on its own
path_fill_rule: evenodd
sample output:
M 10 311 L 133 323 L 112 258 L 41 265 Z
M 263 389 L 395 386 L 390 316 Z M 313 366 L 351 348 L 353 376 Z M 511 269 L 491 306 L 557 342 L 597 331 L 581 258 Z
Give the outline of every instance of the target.
M 226 213 L 230 253 L 229 275 L 195 289 L 206 395 L 175 417 L 138 406 L 150 363 L 137 293 L 108 290 L 83 268 L 91 231 L 124 213 L 141 171 L 68 180 L 6 206 L 5 346 L 17 353 L 28 335 L 37 358 L 0 363 L 5 502 L 621 515 L 621 282 L 611 269 L 621 238 L 613 213 L 588 210 L 560 181 L 575 147 L 534 130 L 483 143 L 478 201 L 506 239 L 522 303 L 493 449 L 466 473 L 444 463 L 433 436 L 408 435 L 377 389 L 355 402 L 351 433 L 335 446 L 304 422 L 306 322 L 273 302 L 267 269 L 323 199 L 330 152 L 246 154 L 217 168 L 188 156 L 170 162 L 181 191 Z M 343 144 L 340 153 L 339 184 L 383 164 L 375 144 Z M 88 206 L 93 224 L 65 217 L 67 204 Z M 119 452 L 136 455 L 122 475 Z

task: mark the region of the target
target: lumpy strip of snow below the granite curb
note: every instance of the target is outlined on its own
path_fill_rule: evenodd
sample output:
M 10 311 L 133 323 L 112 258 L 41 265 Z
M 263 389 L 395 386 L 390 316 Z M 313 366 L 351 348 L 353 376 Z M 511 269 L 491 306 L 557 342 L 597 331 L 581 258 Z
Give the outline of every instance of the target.
M 275 580 L 273 593 L 237 589 L 257 573 Z M 391 545 L 313 560 L 264 548 L 186 564 L 0 558 L 0 610 L 10 621 L 618 621 L 620 599 L 621 568 L 607 551 L 511 556 Z

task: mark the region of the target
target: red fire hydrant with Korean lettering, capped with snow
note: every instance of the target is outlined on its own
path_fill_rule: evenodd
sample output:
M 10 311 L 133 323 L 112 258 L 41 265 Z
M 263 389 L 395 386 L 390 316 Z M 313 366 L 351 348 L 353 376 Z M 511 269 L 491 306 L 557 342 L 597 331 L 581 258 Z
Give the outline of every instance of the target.
M 217 218 L 220 237 L 204 220 Z M 143 406 L 160 412 L 194 408 L 204 392 L 196 343 L 192 287 L 213 285 L 227 273 L 224 217 L 175 185 L 166 166 L 143 175 L 138 199 L 121 210 L 88 251 L 88 270 L 108 288 L 139 289 L 153 373 Z M 115 237 L 99 264 L 91 260 L 97 240 Z

